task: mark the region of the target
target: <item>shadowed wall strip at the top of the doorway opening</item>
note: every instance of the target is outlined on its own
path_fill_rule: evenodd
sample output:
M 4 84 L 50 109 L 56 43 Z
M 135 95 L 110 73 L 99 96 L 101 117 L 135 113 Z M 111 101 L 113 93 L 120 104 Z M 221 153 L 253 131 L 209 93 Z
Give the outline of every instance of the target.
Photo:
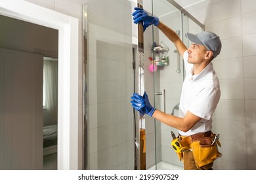
M 58 58 L 58 31 L 7 16 L 0 16 L 1 48 Z

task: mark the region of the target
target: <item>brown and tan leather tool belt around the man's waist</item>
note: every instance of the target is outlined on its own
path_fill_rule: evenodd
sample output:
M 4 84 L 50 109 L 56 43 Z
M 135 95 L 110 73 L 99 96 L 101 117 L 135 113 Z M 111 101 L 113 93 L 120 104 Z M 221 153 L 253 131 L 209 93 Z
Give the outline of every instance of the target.
M 190 150 L 193 153 L 195 163 L 197 167 L 202 167 L 209 163 L 215 161 L 215 159 L 222 156 L 219 152 L 218 146 L 221 147 L 221 142 L 219 141 L 219 135 L 207 131 L 205 133 L 196 133 L 190 136 L 179 135 L 179 142 L 183 146 L 184 151 Z M 182 152 L 177 153 L 180 160 L 182 159 Z

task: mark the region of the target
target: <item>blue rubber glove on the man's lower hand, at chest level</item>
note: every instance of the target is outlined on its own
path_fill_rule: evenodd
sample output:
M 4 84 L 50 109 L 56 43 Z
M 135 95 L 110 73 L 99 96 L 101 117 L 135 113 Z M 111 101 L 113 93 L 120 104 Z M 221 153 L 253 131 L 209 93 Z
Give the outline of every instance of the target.
M 150 105 L 146 92 L 144 92 L 143 97 L 138 93 L 133 93 L 131 99 L 133 99 L 131 103 L 135 110 L 138 110 L 140 113 L 148 114 L 148 116 L 152 116 L 154 114 L 156 108 Z

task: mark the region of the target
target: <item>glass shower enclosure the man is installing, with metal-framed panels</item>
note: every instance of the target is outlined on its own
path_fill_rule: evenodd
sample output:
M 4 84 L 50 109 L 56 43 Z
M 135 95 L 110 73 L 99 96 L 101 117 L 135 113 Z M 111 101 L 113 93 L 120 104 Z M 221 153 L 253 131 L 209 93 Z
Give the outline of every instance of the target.
M 182 58 L 165 35 L 154 26 L 143 33 L 133 24 L 137 6 L 177 30 L 187 46 L 184 32 L 203 29 L 174 1 L 92 0 L 84 5 L 83 169 L 182 169 L 170 145 L 171 131 L 177 130 L 140 117 L 131 107 L 131 95 L 146 91 L 152 105 L 177 115 L 184 78 Z

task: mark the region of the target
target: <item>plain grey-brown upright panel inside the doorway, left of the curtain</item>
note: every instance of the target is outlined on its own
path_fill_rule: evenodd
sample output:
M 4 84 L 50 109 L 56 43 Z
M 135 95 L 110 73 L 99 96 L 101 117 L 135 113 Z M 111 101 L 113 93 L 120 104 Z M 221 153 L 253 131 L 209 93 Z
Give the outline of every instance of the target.
M 42 68 L 40 54 L 0 48 L 1 170 L 43 169 Z

